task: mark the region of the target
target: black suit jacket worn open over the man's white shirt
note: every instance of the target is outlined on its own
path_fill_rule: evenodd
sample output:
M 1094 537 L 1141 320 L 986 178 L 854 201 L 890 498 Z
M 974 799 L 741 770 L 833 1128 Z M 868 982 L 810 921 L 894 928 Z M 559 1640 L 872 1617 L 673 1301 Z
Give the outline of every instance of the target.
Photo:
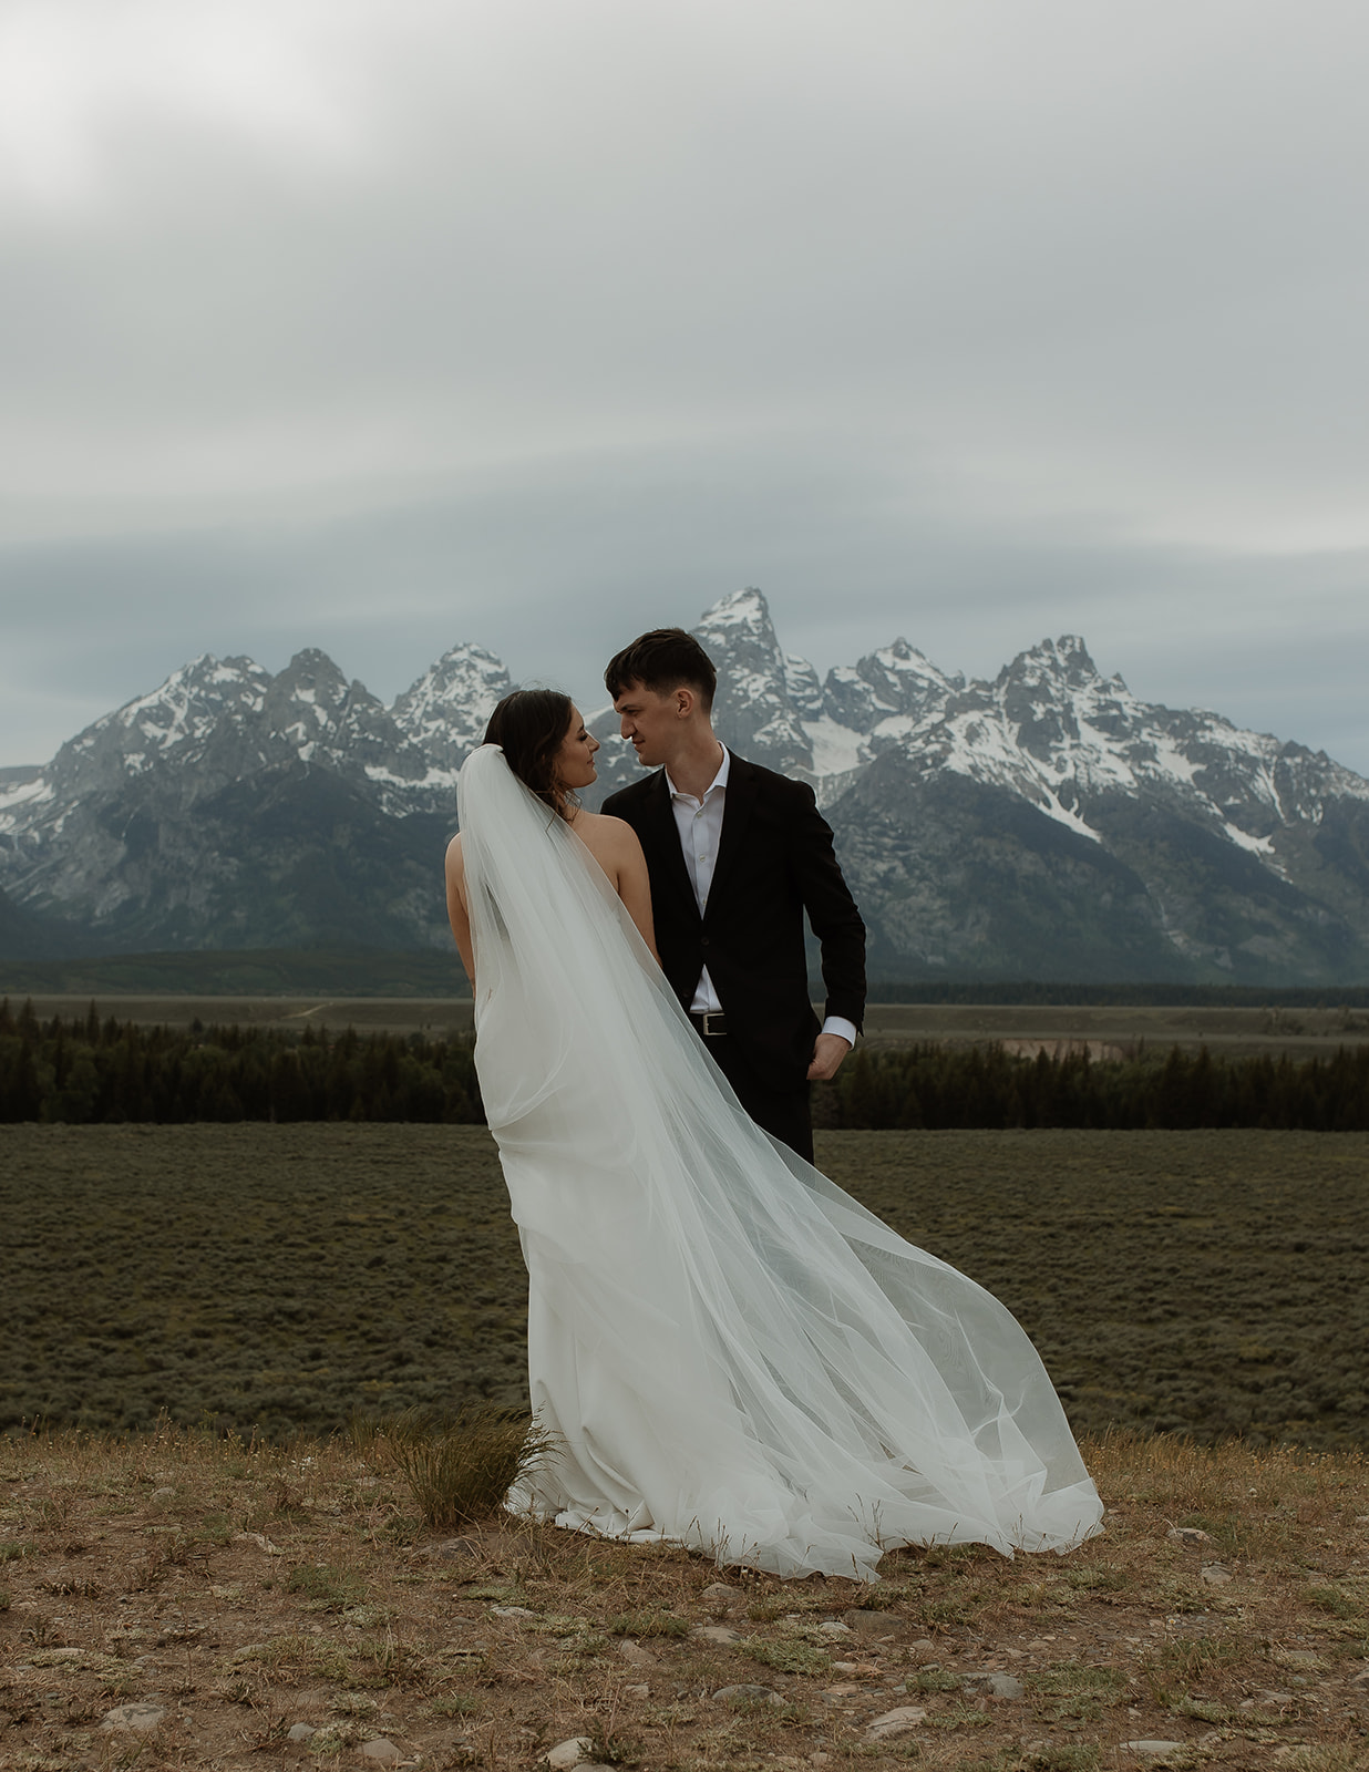
M 630 824 L 645 851 L 656 948 L 679 1001 L 690 1006 L 708 966 L 734 1049 L 757 1081 L 800 1088 L 821 1026 L 809 1001 L 805 911 L 823 948 L 826 1014 L 857 1028 L 865 1014 L 865 925 L 812 789 L 732 757 L 704 916 L 665 771 L 612 794 L 603 810 Z

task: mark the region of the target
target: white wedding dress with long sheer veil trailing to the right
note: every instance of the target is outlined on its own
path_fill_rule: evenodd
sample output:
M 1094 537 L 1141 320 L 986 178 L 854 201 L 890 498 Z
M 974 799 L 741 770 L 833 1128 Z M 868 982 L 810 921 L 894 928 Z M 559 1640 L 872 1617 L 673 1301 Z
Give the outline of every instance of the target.
M 761 1132 L 585 845 L 497 746 L 461 771 L 475 1063 L 559 1457 L 511 1506 L 778 1575 L 1064 1550 L 1103 1513 L 982 1286 Z

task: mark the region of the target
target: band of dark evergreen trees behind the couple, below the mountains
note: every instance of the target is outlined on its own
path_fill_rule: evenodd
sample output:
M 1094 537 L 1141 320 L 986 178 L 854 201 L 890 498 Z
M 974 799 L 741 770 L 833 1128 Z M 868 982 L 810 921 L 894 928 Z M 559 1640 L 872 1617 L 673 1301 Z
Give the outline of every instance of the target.
M 1206 1047 L 1092 1061 L 998 1045 L 857 1051 L 819 1084 L 814 1118 L 842 1129 L 1271 1127 L 1369 1131 L 1369 1045 L 1326 1058 L 1215 1058 Z M 0 1003 L 0 1122 L 484 1122 L 468 1037 L 305 1028 L 144 1028 L 39 1021 Z

